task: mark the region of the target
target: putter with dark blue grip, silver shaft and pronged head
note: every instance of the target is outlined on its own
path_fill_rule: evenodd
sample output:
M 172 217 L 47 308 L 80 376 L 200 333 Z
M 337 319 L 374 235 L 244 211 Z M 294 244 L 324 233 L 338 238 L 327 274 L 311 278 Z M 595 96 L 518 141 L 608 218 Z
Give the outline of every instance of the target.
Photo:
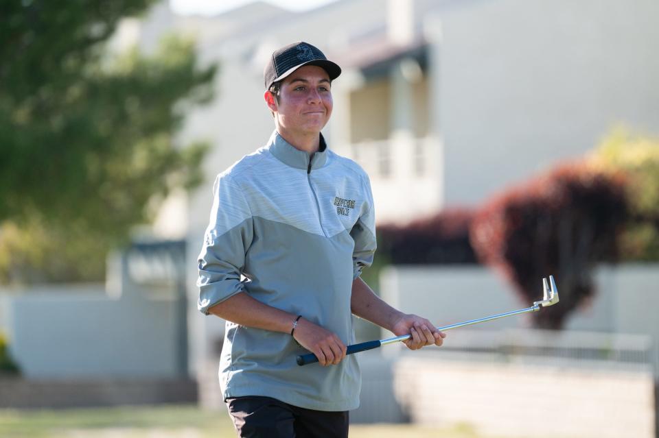
M 452 330 L 453 328 L 473 326 L 474 324 L 481 324 L 481 322 L 494 321 L 494 319 L 505 318 L 513 315 L 521 315 L 522 313 L 537 312 L 540 311 L 540 307 L 553 306 L 558 302 L 558 289 L 556 283 L 554 282 L 554 277 L 549 276 L 549 284 L 547 284 L 547 279 L 542 279 L 543 287 L 543 297 L 541 301 L 536 301 L 533 303 L 533 306 L 527 308 L 521 308 L 518 311 L 511 311 L 506 313 L 498 313 L 497 315 L 492 315 L 489 317 L 471 319 L 470 321 L 459 322 L 457 324 L 451 324 L 450 326 L 437 327 L 437 330 L 444 332 L 446 330 Z M 397 336 L 389 339 L 380 339 L 379 341 L 367 341 L 362 343 L 356 343 L 353 345 L 348 345 L 346 354 L 354 354 L 358 352 L 363 352 L 366 350 L 373 350 L 373 348 L 381 347 L 382 345 L 387 345 L 390 343 L 395 343 L 399 341 L 406 341 L 410 339 L 411 334 L 404 334 L 402 336 Z M 303 354 L 297 356 L 297 365 L 307 365 L 309 363 L 318 362 L 318 358 L 313 353 Z

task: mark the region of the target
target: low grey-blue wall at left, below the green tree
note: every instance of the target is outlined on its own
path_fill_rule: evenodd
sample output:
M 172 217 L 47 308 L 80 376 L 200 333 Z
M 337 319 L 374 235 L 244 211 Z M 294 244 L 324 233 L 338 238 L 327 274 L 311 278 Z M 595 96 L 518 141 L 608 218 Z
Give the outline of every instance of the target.
M 33 379 L 174 378 L 176 297 L 139 287 L 119 258 L 108 284 L 5 291 L 0 306 L 10 353 Z

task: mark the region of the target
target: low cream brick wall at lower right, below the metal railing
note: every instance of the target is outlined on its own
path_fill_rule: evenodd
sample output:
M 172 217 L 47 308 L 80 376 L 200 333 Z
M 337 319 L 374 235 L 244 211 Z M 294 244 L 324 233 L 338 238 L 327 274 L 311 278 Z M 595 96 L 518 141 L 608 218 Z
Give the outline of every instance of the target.
M 655 437 L 649 373 L 432 356 L 395 365 L 397 400 L 415 423 L 502 437 Z

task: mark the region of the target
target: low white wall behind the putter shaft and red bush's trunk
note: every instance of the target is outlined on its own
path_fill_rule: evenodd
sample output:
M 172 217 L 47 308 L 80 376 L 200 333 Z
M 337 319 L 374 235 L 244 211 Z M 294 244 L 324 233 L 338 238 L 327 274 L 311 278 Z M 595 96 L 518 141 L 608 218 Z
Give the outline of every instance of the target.
M 564 330 L 647 334 L 659 341 L 659 269 L 656 265 L 602 266 L 594 273 L 596 293 L 568 316 Z M 382 298 L 404 312 L 424 315 L 438 326 L 531 306 L 507 280 L 485 267 L 388 267 L 380 278 Z M 542 281 L 537 282 L 542 299 Z M 560 290 L 559 290 L 560 296 Z M 560 306 L 561 303 L 555 304 Z M 541 310 L 542 311 L 542 310 Z M 527 315 L 471 326 L 473 330 L 529 328 Z M 389 337 L 388 332 L 383 332 Z

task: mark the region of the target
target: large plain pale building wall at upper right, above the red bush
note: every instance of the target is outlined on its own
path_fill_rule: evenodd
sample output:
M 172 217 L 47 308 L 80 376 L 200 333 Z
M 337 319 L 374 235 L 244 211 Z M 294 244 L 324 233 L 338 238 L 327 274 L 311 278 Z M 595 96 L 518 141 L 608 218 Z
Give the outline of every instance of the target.
M 454 2 L 426 22 L 446 204 L 581 156 L 617 123 L 659 133 L 659 3 Z

